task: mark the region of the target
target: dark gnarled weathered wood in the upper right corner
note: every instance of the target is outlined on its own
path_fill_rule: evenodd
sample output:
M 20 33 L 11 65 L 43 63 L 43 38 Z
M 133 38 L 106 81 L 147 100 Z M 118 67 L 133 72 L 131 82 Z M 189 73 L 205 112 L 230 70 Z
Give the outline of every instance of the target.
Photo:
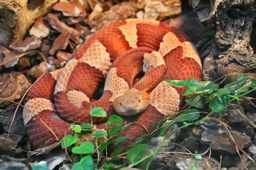
M 201 23 L 216 31 L 212 57 L 218 76 L 255 73 L 256 55 L 250 46 L 250 34 L 256 17 L 256 1 L 193 0 L 192 6 Z M 211 60 L 205 60 L 205 64 L 209 64 L 206 62 Z M 204 71 L 204 74 L 209 74 L 209 71 Z M 229 76 L 227 80 L 234 81 L 236 77 Z

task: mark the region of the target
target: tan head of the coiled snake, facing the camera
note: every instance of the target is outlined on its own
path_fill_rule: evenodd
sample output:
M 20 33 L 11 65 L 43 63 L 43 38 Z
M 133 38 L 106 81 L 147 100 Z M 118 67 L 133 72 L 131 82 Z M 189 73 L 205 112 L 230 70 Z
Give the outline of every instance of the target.
M 145 91 L 131 88 L 124 95 L 113 101 L 113 106 L 120 116 L 132 116 L 145 111 L 149 104 L 149 95 Z

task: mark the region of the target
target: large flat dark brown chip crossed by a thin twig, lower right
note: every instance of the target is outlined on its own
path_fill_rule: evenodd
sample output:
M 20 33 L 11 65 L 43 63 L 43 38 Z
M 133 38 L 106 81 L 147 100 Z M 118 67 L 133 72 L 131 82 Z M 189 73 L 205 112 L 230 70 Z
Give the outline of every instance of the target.
M 217 150 L 222 153 L 236 154 L 236 147 L 232 140 L 226 133 L 223 125 L 217 120 L 217 118 L 207 117 L 199 123 L 201 130 L 204 131 L 201 134 L 201 142 L 208 144 L 213 150 Z M 250 137 L 244 133 L 239 133 L 232 127 L 227 125 L 233 136 L 236 144 L 243 149 L 251 144 Z

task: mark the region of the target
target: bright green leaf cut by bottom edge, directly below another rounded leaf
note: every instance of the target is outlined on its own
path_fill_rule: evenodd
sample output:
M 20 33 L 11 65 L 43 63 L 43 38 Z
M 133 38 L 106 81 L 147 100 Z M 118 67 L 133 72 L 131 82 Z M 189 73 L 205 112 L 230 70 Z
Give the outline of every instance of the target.
M 72 166 L 73 170 L 93 170 L 93 158 L 91 156 L 84 156 L 80 162 L 76 162 Z

